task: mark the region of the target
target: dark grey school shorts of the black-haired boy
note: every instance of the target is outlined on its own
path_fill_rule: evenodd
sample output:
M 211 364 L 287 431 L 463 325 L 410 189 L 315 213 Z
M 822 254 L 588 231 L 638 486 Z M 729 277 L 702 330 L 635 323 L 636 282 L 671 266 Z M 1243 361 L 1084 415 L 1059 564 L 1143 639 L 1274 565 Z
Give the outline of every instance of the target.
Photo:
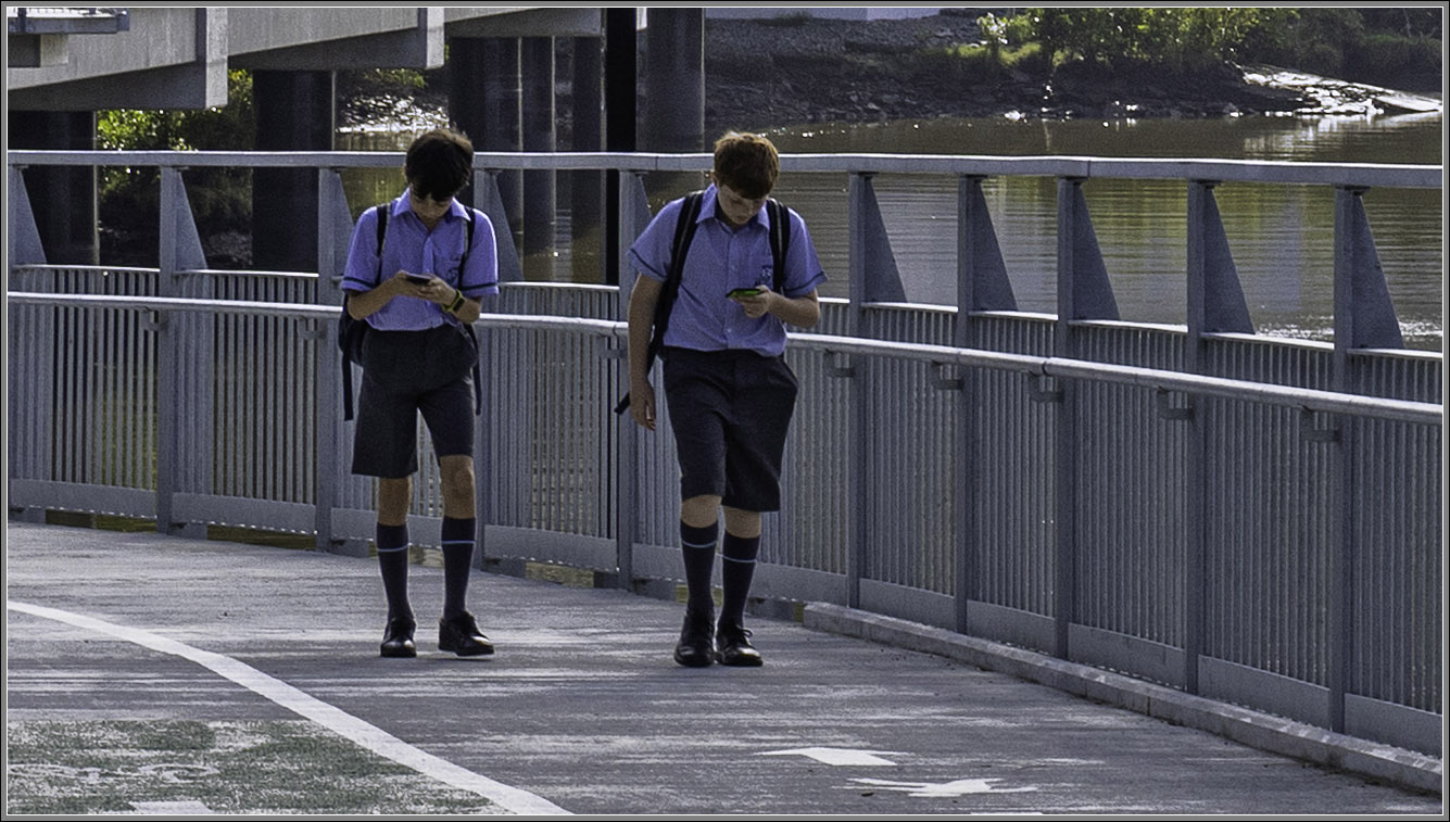
M 352 436 L 352 473 L 402 478 L 418 473 L 418 415 L 434 454 L 473 457 L 473 357 L 450 325 L 428 331 L 368 331 Z

